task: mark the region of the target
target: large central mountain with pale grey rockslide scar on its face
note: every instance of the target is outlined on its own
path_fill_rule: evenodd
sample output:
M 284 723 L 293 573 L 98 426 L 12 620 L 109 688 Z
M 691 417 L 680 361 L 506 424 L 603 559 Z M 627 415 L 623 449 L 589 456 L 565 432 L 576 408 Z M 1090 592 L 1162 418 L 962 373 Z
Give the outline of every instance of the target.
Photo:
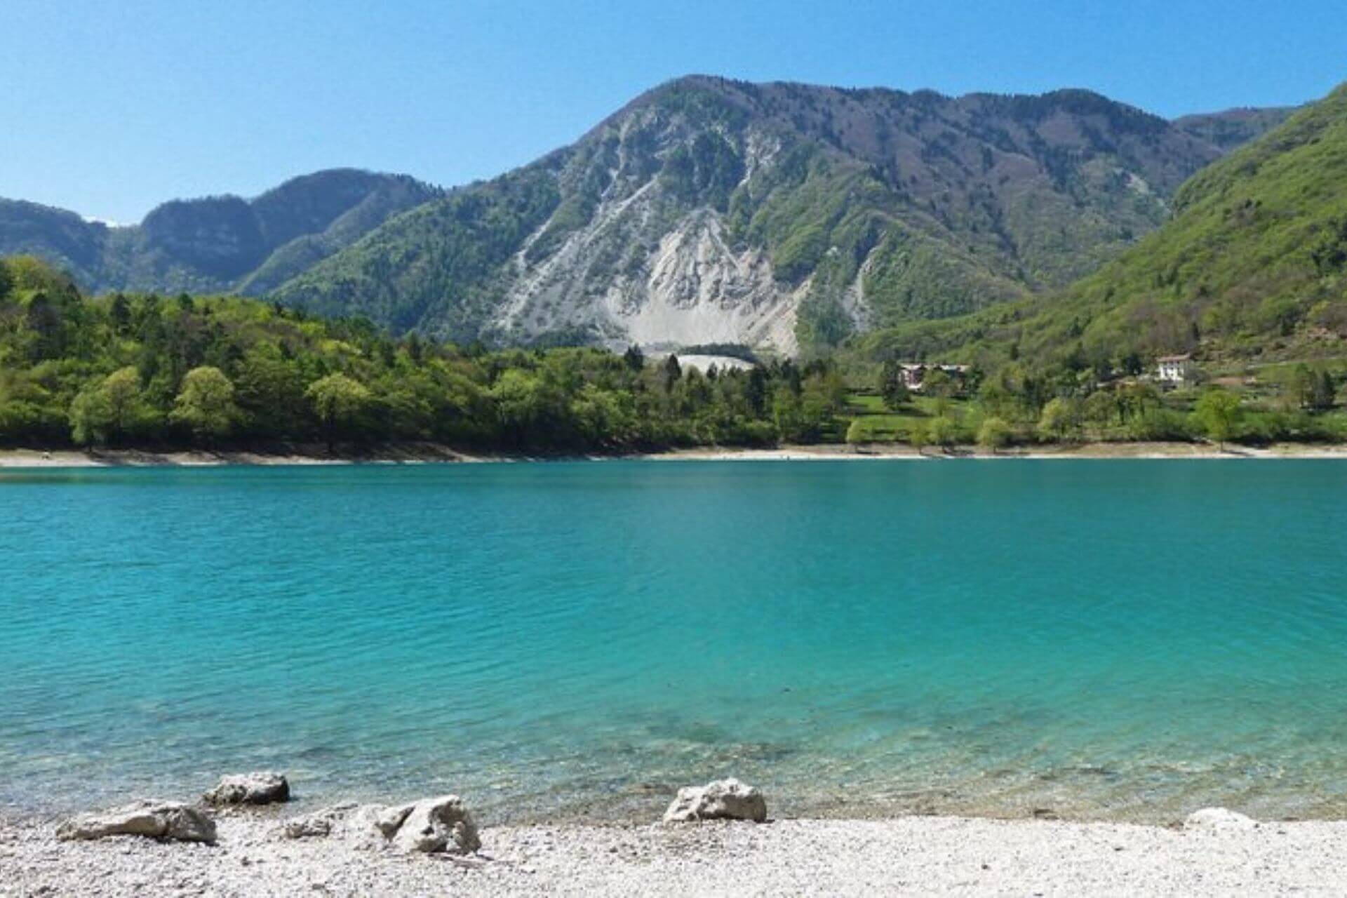
M 792 353 L 1094 271 L 1168 218 L 1177 186 L 1238 139 L 1227 120 L 1179 127 L 1084 90 L 688 77 L 389 221 L 276 298 L 458 341 Z

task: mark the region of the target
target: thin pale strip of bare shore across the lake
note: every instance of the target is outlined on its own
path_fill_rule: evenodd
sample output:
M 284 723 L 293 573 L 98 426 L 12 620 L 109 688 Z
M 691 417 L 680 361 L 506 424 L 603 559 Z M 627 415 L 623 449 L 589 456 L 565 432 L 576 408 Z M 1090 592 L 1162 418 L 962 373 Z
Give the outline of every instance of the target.
M 360 455 L 329 455 L 302 448 L 286 451 L 202 450 L 0 450 L 0 470 L 94 469 L 94 467 L 271 467 L 333 464 L 461 464 L 548 460 L 652 460 L 652 462 L 873 462 L 873 460 L 1013 460 L 1013 459 L 1347 459 L 1347 444 L 1273 443 L 1249 447 L 1210 443 L 1045 443 L 991 452 L 960 446 L 950 451 L 909 446 L 876 444 L 847 447 L 835 443 L 779 446 L 772 448 L 694 447 L 660 452 L 591 455 L 509 455 L 465 452 L 438 444 L 385 447 Z

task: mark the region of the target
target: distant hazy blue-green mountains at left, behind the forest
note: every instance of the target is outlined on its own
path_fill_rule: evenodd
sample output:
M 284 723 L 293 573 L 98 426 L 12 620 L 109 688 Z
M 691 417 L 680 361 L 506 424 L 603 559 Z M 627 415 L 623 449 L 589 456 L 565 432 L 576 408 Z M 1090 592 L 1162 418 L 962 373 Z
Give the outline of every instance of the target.
M 168 202 L 131 228 L 0 199 L 0 254 L 40 256 L 94 292 L 260 295 L 438 195 L 404 175 L 338 168 L 287 180 L 251 201 Z

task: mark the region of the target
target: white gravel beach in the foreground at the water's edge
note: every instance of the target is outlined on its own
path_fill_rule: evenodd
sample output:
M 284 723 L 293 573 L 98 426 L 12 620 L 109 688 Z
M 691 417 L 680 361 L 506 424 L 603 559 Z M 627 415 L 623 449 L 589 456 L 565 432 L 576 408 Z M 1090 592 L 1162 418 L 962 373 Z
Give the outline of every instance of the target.
M 496 827 L 473 858 L 286 840 L 220 819 L 214 847 L 58 843 L 0 821 L 0 895 L 1276 895 L 1347 890 L 1347 823 L 1183 831 L 958 817 Z

